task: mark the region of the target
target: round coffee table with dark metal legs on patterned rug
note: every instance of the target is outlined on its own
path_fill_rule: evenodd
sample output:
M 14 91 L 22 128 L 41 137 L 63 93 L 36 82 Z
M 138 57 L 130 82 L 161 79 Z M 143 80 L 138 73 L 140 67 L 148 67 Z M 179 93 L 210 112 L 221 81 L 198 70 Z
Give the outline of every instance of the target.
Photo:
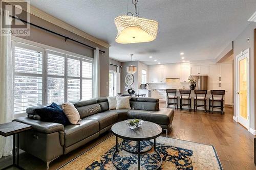
M 146 153 L 147 151 L 149 151 L 149 150 L 145 150 L 145 151 L 141 152 L 140 151 L 140 142 L 142 142 L 142 141 L 150 142 L 149 140 L 154 139 L 154 150 L 160 157 L 160 163 L 156 169 L 159 169 L 161 167 L 163 161 L 162 161 L 160 154 L 156 150 L 156 138 L 158 136 L 160 136 L 162 133 L 162 128 L 159 125 L 152 123 L 152 122 L 144 121 L 143 124 L 139 128 L 130 129 L 126 125 L 126 123 L 124 121 L 122 121 L 122 122 L 118 122 L 118 123 L 114 124 L 111 127 L 111 131 L 116 136 L 116 150 L 112 155 L 112 162 L 117 169 L 121 169 L 120 167 L 118 167 L 118 165 L 114 161 L 115 154 L 118 152 L 118 137 L 122 138 L 123 141 L 125 139 L 136 141 L 136 152 L 124 149 L 125 147 L 123 147 L 123 141 L 121 143 L 121 146 L 127 152 L 138 154 L 138 169 L 140 169 L 140 154 Z

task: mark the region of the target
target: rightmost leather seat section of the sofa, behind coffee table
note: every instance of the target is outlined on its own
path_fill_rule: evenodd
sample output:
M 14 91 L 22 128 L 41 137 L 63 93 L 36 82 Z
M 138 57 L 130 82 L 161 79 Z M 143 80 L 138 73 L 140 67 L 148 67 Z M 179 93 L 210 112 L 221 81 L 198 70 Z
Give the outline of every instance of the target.
M 173 121 L 174 110 L 167 108 L 161 108 L 159 111 L 129 110 L 127 116 L 128 118 L 139 118 L 156 124 L 169 125 Z

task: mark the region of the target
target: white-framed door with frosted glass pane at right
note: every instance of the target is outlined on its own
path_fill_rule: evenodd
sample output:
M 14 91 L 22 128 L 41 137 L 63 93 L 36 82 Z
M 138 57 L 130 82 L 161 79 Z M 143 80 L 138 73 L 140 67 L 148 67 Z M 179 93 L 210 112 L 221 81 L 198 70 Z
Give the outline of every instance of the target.
M 249 50 L 237 56 L 238 122 L 249 129 Z

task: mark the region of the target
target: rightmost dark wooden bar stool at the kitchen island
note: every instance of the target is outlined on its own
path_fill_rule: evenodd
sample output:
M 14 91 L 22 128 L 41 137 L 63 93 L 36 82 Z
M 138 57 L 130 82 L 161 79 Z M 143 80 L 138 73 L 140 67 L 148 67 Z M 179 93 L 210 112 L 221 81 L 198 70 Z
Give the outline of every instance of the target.
M 210 90 L 210 94 L 211 94 L 211 98 L 209 99 L 209 112 L 210 112 L 210 108 L 212 107 L 212 113 L 214 112 L 214 108 L 218 108 L 218 109 L 221 109 L 221 114 L 223 114 L 224 113 L 223 102 L 224 102 L 225 90 Z M 214 95 L 221 95 L 221 97 L 220 96 L 214 97 Z M 221 106 L 215 106 L 214 102 L 220 102 Z

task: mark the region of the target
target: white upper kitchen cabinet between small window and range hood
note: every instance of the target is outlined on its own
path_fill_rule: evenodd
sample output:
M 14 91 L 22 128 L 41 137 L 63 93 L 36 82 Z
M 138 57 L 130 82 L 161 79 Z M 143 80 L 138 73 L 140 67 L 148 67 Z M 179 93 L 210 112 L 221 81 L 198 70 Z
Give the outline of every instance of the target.
M 148 68 L 149 83 L 165 83 L 165 67 L 150 67 Z

